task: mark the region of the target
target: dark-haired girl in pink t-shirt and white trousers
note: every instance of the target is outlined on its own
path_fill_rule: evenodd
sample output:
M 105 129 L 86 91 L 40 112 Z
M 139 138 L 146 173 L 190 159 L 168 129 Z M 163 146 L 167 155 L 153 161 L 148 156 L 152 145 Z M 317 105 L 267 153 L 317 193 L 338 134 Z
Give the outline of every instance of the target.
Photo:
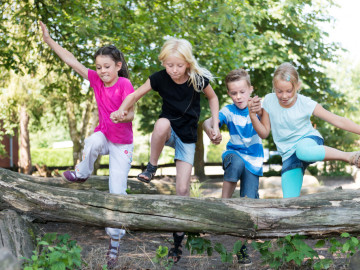
M 94 162 L 99 155 L 109 155 L 110 193 L 126 195 L 127 176 L 131 167 L 133 151 L 132 123 L 134 112 L 129 113 L 119 123 L 113 123 L 110 113 L 116 111 L 124 98 L 134 92 L 128 78 L 127 65 L 123 54 L 115 46 L 105 46 L 95 53 L 96 71 L 87 69 L 79 63 L 73 54 L 57 44 L 50 36 L 46 26 L 40 22 L 43 39 L 55 53 L 90 81 L 94 89 L 99 111 L 99 125 L 94 133 L 85 140 L 83 159 L 76 165 L 75 171 L 63 173 L 63 179 L 72 183 L 83 183 L 91 175 Z M 120 123 L 121 122 L 121 123 Z M 107 253 L 108 266 L 116 264 L 119 255 L 119 241 L 125 230 L 106 228 L 110 236 Z

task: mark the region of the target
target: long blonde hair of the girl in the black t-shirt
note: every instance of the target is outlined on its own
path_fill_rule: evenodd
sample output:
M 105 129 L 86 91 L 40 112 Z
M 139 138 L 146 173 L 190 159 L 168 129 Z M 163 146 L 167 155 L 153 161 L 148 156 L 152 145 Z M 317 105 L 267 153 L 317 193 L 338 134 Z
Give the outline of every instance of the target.
M 186 39 L 170 38 L 161 48 L 159 60 L 161 63 L 165 61 L 170 55 L 183 59 L 189 64 L 188 75 L 189 84 L 191 84 L 195 91 L 200 92 L 205 85 L 204 77 L 209 81 L 214 79 L 213 75 L 206 68 L 201 67 L 192 54 L 192 46 Z

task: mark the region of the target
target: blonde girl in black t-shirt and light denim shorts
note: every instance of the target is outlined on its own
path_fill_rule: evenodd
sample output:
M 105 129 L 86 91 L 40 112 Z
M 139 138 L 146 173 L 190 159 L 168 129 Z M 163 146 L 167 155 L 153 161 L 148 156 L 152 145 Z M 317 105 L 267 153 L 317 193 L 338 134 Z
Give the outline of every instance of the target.
M 163 45 L 159 60 L 165 69 L 152 74 L 133 94 L 126 97 L 119 110 L 112 114 L 122 119 L 127 110 L 151 89 L 162 98 L 162 112 L 151 136 L 150 161 L 138 179 L 149 183 L 154 177 L 164 145 L 175 148 L 176 194 L 189 196 L 190 177 L 194 161 L 197 125 L 200 117 L 200 92 L 208 98 L 213 119 L 218 119 L 218 98 L 209 84 L 211 73 L 200 67 L 192 54 L 192 46 L 185 39 L 170 38 Z M 213 139 L 220 136 L 214 129 Z M 179 261 L 184 233 L 173 233 L 174 247 L 169 252 L 174 262 Z

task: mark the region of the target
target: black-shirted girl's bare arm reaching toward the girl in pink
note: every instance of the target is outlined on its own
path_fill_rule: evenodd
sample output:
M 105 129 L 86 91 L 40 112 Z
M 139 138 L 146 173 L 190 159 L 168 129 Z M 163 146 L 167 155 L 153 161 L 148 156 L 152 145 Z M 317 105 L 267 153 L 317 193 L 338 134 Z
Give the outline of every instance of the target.
M 147 92 L 151 90 L 150 79 L 140 86 L 134 93 L 127 95 L 121 103 L 119 109 L 110 114 L 110 118 L 114 123 L 124 122 L 124 119 L 129 114 L 129 110 L 134 107 L 135 103 L 142 98 Z M 128 121 L 127 121 L 128 122 Z

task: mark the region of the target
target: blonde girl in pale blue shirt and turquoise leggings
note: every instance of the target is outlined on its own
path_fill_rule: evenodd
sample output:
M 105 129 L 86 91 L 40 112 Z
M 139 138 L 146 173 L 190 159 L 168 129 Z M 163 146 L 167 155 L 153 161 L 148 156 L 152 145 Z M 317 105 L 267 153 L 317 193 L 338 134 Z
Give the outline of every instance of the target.
M 253 101 L 249 101 L 250 118 L 255 130 L 265 139 L 271 129 L 277 150 L 282 156 L 284 198 L 300 196 L 304 171 L 315 161 L 342 160 L 360 167 L 360 152 L 343 152 L 324 146 L 324 140 L 311 125 L 310 117 L 314 115 L 356 134 L 360 134 L 360 126 L 299 94 L 300 87 L 296 69 L 290 63 L 283 63 L 274 74 L 274 93 L 265 96 L 261 121 L 252 110 Z

